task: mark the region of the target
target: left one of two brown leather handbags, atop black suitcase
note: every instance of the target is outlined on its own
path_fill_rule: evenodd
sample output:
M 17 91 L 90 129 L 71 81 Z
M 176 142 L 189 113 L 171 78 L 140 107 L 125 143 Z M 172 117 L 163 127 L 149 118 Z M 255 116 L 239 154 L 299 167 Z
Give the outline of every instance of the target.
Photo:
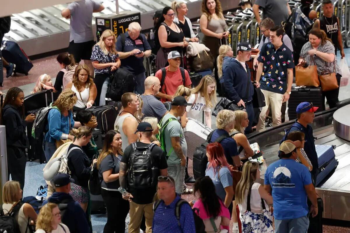
M 312 58 L 311 61 L 313 61 Z M 296 86 L 319 87 L 320 80 L 318 80 L 317 66 L 295 66 L 295 83 Z

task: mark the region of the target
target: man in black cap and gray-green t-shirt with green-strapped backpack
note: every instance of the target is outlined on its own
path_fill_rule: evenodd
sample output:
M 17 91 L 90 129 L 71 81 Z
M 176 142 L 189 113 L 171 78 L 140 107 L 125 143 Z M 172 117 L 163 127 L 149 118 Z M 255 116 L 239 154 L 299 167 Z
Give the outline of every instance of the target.
M 168 174 L 175 180 L 175 192 L 179 195 L 182 194 L 184 188 L 187 143 L 177 117 L 183 116 L 186 106 L 191 105 L 187 103 L 185 97 L 176 96 L 172 101 L 172 109 L 160 122 L 161 137 L 164 137 L 166 156 L 169 157 L 167 160 Z M 168 121 L 169 119 L 171 121 Z

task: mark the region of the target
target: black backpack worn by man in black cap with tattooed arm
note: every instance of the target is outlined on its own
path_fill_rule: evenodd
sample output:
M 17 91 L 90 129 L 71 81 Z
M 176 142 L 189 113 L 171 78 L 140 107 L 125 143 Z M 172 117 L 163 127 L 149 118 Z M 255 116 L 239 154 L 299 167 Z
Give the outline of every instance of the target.
M 137 147 L 132 143 L 133 152 L 129 158 L 128 182 L 132 188 L 154 187 L 159 176 L 159 168 L 154 167 L 151 151 L 154 143 L 146 147 Z

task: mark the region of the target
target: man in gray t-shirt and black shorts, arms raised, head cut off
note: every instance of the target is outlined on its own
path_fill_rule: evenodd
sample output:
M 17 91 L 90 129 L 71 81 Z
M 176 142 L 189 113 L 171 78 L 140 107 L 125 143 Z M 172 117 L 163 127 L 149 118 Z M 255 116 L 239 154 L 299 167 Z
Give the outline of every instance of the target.
M 70 19 L 70 36 L 68 52 L 73 54 L 76 63 L 84 60 L 93 77 L 93 66 L 90 60 L 94 35 L 92 33 L 92 13 L 100 12 L 105 7 L 94 0 L 72 2 L 61 11 L 61 15 Z

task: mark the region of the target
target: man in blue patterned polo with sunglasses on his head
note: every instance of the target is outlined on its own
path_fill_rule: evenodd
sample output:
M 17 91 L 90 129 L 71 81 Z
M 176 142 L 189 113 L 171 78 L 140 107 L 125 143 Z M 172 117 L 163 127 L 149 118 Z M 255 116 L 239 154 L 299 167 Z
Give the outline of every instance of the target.
M 175 193 L 175 181 L 170 176 L 158 177 L 158 196 L 161 199 L 154 207 L 153 233 L 194 233 L 195 222 L 191 206 L 180 206 L 180 220 L 176 219 L 175 208 L 181 197 Z M 180 226 L 179 226 L 180 223 Z

